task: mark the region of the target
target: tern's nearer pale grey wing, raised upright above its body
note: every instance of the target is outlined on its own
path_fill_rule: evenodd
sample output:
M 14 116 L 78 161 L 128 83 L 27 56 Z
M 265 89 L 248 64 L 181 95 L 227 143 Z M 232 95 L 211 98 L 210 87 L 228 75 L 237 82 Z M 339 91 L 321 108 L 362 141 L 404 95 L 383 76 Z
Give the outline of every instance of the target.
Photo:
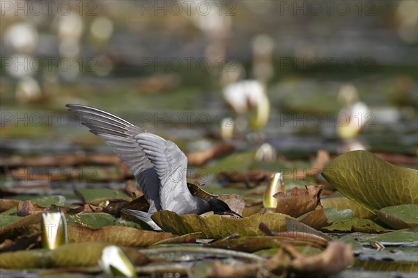
M 200 199 L 193 197 L 186 183 L 187 158 L 177 145 L 151 133 L 134 136 L 160 177 L 162 209 L 178 214 L 196 213 Z

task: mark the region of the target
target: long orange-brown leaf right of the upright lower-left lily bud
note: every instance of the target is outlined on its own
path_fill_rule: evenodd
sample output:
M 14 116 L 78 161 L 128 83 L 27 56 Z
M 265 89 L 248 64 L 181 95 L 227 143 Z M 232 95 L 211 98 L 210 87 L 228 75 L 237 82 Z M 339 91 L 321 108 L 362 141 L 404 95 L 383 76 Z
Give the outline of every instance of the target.
M 122 226 L 106 226 L 99 229 L 91 229 L 79 225 L 68 226 L 68 240 L 70 243 L 103 241 L 113 245 L 146 247 L 160 240 L 175 237 L 169 233 L 139 230 Z

